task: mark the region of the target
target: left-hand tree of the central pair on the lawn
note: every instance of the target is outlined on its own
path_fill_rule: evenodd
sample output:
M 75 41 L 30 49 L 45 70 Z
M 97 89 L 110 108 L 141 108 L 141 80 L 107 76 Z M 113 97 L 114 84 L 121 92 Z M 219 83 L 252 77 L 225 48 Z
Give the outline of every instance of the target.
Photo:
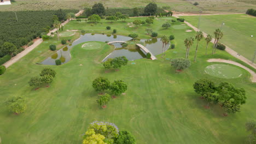
M 92 87 L 97 92 L 103 92 L 110 87 L 110 82 L 107 78 L 97 77 L 94 81 L 92 81 Z

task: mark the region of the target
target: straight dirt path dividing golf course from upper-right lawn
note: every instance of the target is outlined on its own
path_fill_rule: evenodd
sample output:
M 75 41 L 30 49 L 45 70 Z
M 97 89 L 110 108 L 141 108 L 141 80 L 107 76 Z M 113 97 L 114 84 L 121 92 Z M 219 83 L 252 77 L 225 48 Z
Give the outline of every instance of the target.
M 214 15 L 214 14 L 213 14 L 213 15 Z M 179 17 L 179 16 L 177 16 L 177 15 L 173 15 L 173 16 L 174 16 L 174 17 L 177 17 L 177 18 Z M 184 21 L 184 23 L 186 23 L 189 27 L 193 28 L 196 32 L 200 31 L 200 29 L 194 27 L 194 26 L 191 25 L 189 22 Z M 207 33 L 203 32 L 203 37 L 206 38 L 206 37 L 207 37 Z M 212 39 L 211 42 L 214 43 L 214 40 L 215 40 L 215 39 Z M 225 46 L 226 46 L 226 45 L 225 45 Z M 243 56 L 241 56 L 241 55 L 238 56 L 238 55 L 237 55 L 237 52 L 234 51 L 234 50 L 232 50 L 232 49 L 230 49 L 228 46 L 226 46 L 225 51 L 228 52 L 230 55 L 232 55 L 232 56 L 234 56 L 234 57 L 240 59 L 241 61 L 243 61 L 243 62 L 245 62 L 245 63 L 251 65 L 254 69 L 256 69 L 256 64 L 255 64 L 255 63 L 252 64 L 252 62 L 249 61 L 249 59 L 247 59 L 247 58 L 245 58 L 245 57 L 243 57 Z

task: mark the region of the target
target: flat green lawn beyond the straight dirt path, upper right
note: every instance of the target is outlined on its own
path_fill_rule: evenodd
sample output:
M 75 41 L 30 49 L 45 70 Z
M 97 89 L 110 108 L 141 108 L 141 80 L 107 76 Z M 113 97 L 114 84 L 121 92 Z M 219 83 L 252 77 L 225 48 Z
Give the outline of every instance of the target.
M 199 16 L 182 17 L 193 26 L 198 26 Z M 224 37 L 220 42 L 249 60 L 252 59 L 254 51 L 256 50 L 256 17 L 246 14 L 203 15 L 200 21 L 200 29 L 211 35 L 214 35 L 214 29 L 220 28 L 224 22 Z M 253 35 L 253 37 L 251 37 L 251 35 Z M 256 59 L 254 62 L 256 62 Z

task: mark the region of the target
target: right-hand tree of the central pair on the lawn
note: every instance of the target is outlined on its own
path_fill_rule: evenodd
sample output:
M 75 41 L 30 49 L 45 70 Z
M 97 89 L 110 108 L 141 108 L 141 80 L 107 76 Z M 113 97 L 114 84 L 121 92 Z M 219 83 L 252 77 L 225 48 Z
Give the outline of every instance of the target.
M 115 80 L 111 86 L 110 91 L 115 95 L 120 95 L 127 90 L 127 85 L 123 80 Z

